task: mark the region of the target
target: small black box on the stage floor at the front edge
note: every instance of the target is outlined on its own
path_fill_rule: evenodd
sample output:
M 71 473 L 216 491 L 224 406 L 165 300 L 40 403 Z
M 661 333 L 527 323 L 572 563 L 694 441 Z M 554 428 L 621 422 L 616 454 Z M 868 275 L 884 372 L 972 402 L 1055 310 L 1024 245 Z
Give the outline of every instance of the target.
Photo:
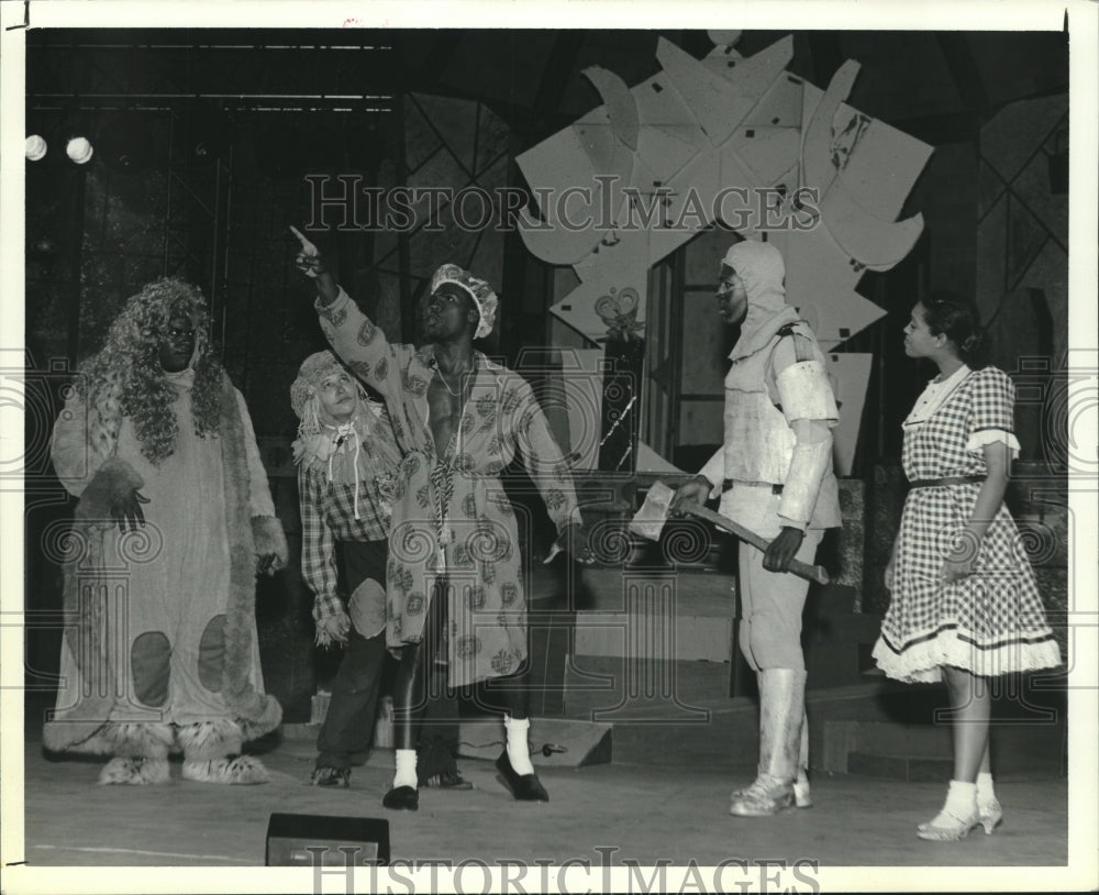
M 388 863 L 388 820 L 274 814 L 267 824 L 266 865 L 269 868 L 345 868 Z

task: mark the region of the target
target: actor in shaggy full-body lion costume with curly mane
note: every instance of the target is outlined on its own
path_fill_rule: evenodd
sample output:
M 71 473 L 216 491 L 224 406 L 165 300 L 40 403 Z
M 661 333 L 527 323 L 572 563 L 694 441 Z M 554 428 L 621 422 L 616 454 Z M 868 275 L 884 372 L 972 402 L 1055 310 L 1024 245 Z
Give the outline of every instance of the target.
M 147 285 L 80 368 L 52 456 L 76 497 L 62 686 L 47 749 L 114 758 L 100 783 L 265 783 L 243 744 L 274 730 L 255 576 L 286 562 L 247 407 L 202 295 Z

